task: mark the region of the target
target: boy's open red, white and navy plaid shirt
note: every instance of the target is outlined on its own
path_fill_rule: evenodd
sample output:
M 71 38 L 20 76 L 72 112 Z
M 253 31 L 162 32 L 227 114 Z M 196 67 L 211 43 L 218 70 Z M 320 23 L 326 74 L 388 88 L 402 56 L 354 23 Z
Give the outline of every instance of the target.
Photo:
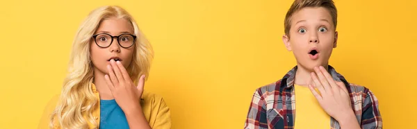
M 275 83 L 256 89 L 245 121 L 245 129 L 294 128 L 295 92 L 294 78 L 297 66 Z M 352 110 L 361 128 L 382 128 L 382 117 L 375 95 L 366 87 L 347 83 L 341 74 L 329 65 L 329 73 L 334 80 L 342 81 L 349 92 Z M 331 118 L 329 128 L 341 128 L 338 121 Z

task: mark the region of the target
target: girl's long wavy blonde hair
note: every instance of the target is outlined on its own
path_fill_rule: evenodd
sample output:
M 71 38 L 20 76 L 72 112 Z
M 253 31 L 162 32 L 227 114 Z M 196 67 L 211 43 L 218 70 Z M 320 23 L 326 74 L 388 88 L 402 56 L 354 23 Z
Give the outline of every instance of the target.
M 119 6 L 103 6 L 92 10 L 76 33 L 70 55 L 69 74 L 63 82 L 60 98 L 50 117 L 51 128 L 54 126 L 65 129 L 88 128 L 88 122 L 98 127 L 98 123 L 92 117 L 93 107 L 97 106 L 99 98 L 92 92 L 94 66 L 90 57 L 90 44 L 99 24 L 110 17 L 128 20 L 138 37 L 134 45 L 132 62 L 126 68 L 131 79 L 138 80 L 139 76 L 149 74 L 150 63 L 154 56 L 152 46 L 142 35 L 129 12 Z

